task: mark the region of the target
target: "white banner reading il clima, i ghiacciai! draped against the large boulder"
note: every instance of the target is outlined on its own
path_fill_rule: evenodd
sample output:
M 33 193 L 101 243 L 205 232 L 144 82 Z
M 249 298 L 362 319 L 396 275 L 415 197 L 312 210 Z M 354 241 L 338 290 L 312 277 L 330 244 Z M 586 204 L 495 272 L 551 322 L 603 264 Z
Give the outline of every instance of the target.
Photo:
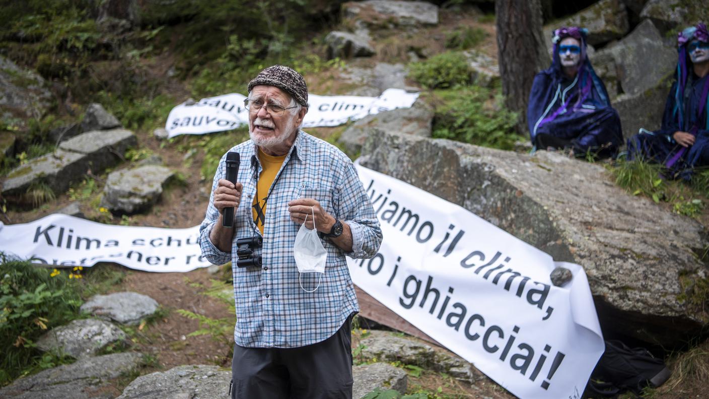
M 357 165 L 384 241 L 354 284 L 519 398 L 579 399 L 605 345 L 586 273 L 467 209 Z M 571 270 L 552 285 L 557 266 Z

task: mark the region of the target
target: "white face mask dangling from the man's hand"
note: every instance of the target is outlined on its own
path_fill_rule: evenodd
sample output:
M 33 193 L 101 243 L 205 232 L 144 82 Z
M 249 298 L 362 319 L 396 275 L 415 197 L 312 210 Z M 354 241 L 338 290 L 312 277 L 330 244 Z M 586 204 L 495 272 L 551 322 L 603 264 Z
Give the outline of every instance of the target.
M 311 207 L 311 212 L 313 212 L 314 222 L 315 212 L 313 211 L 313 207 Z M 307 221 L 308 215 L 306 215 L 306 222 Z M 328 261 L 328 251 L 325 251 L 323 243 L 320 242 L 318 230 L 308 229 L 305 222 L 303 222 L 301 229 L 298 230 L 296 242 L 293 244 L 293 257 L 296 258 L 298 283 L 300 283 L 301 288 L 303 288 L 301 273 L 321 273 L 318 276 L 318 285 L 316 285 L 316 288 L 313 288 L 311 291 L 303 288 L 303 291 L 306 293 L 314 293 L 318 287 L 320 287 L 320 280 L 323 278 L 322 273 L 325 273 L 325 262 Z

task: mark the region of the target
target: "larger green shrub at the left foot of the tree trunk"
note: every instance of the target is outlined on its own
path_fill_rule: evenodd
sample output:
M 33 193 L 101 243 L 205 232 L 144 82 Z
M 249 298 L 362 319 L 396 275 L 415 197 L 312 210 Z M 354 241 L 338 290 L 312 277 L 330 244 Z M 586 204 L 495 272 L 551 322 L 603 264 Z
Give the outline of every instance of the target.
M 506 109 L 501 97 L 489 89 L 465 87 L 435 93 L 432 136 L 477 146 L 513 148 L 520 136 L 514 133 L 517 115 Z

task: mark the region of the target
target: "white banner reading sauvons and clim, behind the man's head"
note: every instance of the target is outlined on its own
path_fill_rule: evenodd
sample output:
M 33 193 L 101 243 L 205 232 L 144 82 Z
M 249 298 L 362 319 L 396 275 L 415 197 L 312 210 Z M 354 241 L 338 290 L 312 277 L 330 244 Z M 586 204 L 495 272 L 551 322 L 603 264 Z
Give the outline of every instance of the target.
M 242 94 L 231 93 L 201 99 L 192 105 L 182 103 L 170 111 L 165 129 L 169 137 L 235 129 L 249 123 L 244 99 Z M 309 94 L 310 108 L 302 127 L 339 126 L 381 111 L 408 108 L 416 99 L 418 93 L 403 89 L 386 89 L 379 97 Z

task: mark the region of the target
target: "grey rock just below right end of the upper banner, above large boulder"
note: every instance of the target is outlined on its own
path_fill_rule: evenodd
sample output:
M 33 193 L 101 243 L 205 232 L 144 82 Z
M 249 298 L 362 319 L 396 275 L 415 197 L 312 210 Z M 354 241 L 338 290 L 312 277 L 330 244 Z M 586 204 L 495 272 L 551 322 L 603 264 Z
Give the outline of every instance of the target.
M 359 119 L 342 132 L 338 141 L 345 146 L 347 153 L 356 154 L 372 129 L 430 137 L 432 123 L 433 110 L 418 100 L 411 108 L 393 109 Z

